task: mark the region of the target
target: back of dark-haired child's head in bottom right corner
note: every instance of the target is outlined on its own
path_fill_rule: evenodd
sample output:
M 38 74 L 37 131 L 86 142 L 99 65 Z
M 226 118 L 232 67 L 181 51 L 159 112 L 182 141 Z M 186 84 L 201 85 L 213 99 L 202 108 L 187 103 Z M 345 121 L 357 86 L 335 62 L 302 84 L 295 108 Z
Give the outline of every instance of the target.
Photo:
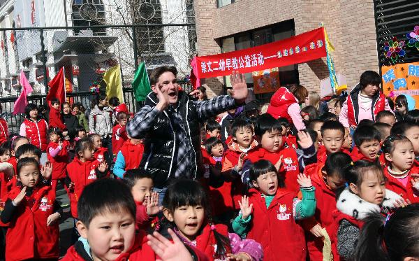
M 386 217 L 370 213 L 365 218 L 355 261 L 418 261 L 419 204 L 399 208 Z

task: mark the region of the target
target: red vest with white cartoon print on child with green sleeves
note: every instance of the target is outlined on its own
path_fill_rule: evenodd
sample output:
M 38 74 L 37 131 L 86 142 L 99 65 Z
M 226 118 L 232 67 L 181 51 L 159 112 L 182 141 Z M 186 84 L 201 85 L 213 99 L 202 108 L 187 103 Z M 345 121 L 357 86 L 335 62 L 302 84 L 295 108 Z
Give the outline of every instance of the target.
M 277 195 L 266 209 L 260 192 L 251 189 L 249 204 L 253 204 L 251 228 L 247 239 L 263 247 L 265 261 L 306 260 L 306 244 L 302 227 L 295 222 L 293 202 L 296 194 L 278 188 Z

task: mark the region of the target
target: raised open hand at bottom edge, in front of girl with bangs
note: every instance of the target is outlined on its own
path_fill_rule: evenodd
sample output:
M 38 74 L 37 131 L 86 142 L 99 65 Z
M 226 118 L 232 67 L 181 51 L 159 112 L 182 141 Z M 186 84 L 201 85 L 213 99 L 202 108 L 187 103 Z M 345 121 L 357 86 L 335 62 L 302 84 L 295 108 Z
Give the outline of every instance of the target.
M 172 237 L 173 243 L 159 234 L 159 232 L 147 235 L 147 239 L 149 239 L 147 244 L 161 258 L 157 261 L 193 261 L 191 253 L 189 253 L 175 232 L 170 228 L 168 232 L 170 237 Z

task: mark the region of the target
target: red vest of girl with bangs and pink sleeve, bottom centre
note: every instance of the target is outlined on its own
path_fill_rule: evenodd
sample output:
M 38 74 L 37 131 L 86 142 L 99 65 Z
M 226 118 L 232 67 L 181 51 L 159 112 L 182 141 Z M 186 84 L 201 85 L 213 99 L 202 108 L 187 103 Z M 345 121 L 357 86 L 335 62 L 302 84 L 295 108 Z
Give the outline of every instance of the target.
M 215 225 L 215 230 L 228 239 L 228 227 L 226 225 Z M 215 260 L 214 255 L 216 248 L 214 248 L 214 246 L 216 246 L 214 233 L 212 232 L 210 225 L 205 225 L 201 234 L 196 237 L 196 248 L 198 251 L 203 252 L 208 260 Z M 231 250 L 227 249 L 227 253 L 231 253 Z

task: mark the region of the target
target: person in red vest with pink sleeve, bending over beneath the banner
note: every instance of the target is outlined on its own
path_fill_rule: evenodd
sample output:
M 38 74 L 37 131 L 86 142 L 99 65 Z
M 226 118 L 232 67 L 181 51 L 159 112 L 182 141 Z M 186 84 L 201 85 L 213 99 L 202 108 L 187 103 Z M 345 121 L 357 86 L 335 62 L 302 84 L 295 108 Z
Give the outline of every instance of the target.
M 300 104 L 309 96 L 307 89 L 299 84 L 280 87 L 270 100 L 267 113 L 274 118 L 286 118 L 297 130 L 305 129 Z

